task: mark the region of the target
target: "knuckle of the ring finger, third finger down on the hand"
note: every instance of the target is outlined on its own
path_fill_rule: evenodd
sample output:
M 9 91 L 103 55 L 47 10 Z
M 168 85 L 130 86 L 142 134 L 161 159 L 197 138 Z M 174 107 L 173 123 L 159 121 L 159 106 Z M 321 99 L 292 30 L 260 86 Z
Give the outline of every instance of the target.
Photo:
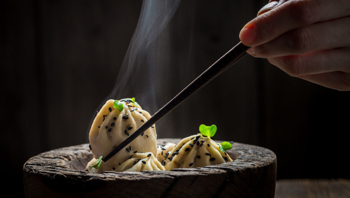
M 287 56 L 284 62 L 285 72 L 289 76 L 297 77 L 305 73 L 304 61 L 301 56 Z

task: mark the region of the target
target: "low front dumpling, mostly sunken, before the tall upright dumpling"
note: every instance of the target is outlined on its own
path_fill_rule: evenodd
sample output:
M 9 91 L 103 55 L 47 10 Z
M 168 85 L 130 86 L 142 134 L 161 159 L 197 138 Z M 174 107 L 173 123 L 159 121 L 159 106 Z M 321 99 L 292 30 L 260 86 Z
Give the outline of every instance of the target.
M 135 153 L 132 158 L 123 162 L 114 171 L 165 170 L 153 153 Z

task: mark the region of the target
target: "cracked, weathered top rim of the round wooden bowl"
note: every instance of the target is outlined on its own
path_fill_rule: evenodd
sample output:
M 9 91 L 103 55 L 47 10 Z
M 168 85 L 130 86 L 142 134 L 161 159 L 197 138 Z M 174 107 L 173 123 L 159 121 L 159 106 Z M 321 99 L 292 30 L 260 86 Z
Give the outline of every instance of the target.
M 163 142 L 178 143 L 181 139 L 158 139 L 158 145 Z M 222 141 L 216 141 L 222 142 Z M 231 156 L 233 162 L 228 162 L 219 165 L 211 165 L 202 168 L 180 168 L 173 169 L 171 171 L 141 171 L 141 172 L 97 172 L 89 173 L 87 171 L 80 171 L 84 169 L 84 166 L 92 158 L 91 151 L 89 150 L 89 144 L 80 144 L 77 146 L 64 147 L 54 149 L 48 152 L 44 152 L 37 156 L 31 157 L 24 165 L 24 171 L 36 172 L 40 170 L 38 174 L 41 175 L 52 175 L 57 174 L 59 176 L 67 177 L 79 177 L 81 179 L 113 179 L 128 175 L 128 179 L 149 179 L 152 176 L 167 176 L 172 175 L 174 171 L 181 171 L 182 174 L 212 174 L 212 171 L 222 172 L 229 168 L 235 168 L 237 171 L 244 171 L 245 169 L 264 167 L 267 164 L 271 164 L 276 160 L 276 155 L 269 149 L 243 144 L 243 143 L 232 143 L 232 150 L 228 150 L 227 153 Z M 85 156 L 85 159 L 84 157 Z M 89 156 L 86 158 L 86 156 Z M 38 161 L 41 159 L 41 162 Z M 45 160 L 45 159 L 48 159 Z M 33 167 L 33 165 L 35 166 Z M 80 164 L 80 165 L 79 165 Z M 40 168 L 39 168 L 40 167 Z M 38 168 L 38 169 L 37 169 Z

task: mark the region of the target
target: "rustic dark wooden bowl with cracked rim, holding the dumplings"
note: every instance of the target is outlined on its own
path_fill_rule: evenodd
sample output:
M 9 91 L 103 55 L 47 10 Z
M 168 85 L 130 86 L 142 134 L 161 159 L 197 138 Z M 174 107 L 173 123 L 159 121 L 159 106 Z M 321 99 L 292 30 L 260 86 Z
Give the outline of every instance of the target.
M 179 143 L 181 139 L 158 139 Z M 221 141 L 216 141 L 221 142 Z M 171 171 L 80 171 L 92 159 L 89 144 L 31 157 L 23 166 L 25 195 L 31 197 L 274 197 L 276 155 L 266 148 L 232 143 L 233 162 Z

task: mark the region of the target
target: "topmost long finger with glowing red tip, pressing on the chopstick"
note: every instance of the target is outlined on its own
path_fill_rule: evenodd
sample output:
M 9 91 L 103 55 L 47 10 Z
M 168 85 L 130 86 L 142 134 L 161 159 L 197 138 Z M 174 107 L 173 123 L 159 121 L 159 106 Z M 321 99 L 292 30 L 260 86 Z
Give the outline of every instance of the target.
M 289 30 L 349 15 L 349 0 L 289 0 L 248 22 L 239 33 L 247 46 L 266 43 Z

